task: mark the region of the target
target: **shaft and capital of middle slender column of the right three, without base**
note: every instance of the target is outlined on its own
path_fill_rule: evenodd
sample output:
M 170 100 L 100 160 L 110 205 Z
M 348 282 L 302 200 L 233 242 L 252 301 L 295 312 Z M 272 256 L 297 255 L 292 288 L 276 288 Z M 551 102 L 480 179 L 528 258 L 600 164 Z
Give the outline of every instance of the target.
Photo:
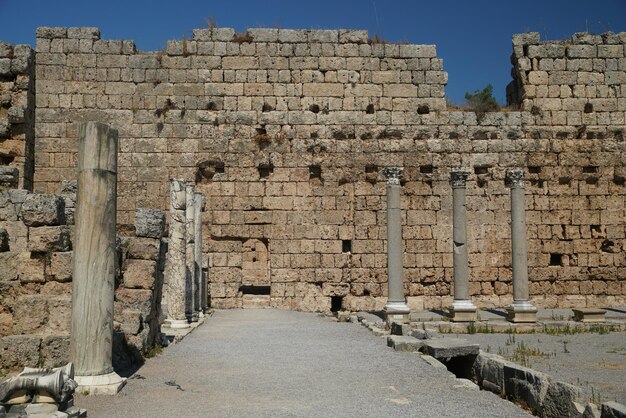
M 452 172 L 452 263 L 454 300 L 469 300 L 465 181 L 468 173 Z

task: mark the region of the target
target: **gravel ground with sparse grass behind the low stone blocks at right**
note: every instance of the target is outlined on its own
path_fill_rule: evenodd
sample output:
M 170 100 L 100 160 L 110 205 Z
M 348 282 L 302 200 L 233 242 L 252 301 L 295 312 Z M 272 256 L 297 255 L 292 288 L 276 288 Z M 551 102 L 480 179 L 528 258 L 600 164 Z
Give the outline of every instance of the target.
M 588 398 L 626 405 L 626 333 L 459 334 L 480 348 L 580 387 Z M 522 356 L 526 353 L 526 356 Z M 592 392 L 593 388 L 593 392 Z

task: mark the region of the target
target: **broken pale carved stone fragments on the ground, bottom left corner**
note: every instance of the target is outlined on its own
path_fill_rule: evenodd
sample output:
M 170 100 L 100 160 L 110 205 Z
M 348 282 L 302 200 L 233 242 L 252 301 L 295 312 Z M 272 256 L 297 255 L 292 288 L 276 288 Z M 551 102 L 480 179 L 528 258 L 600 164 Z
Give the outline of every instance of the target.
M 85 418 L 74 406 L 74 365 L 57 368 L 26 367 L 0 383 L 0 418 Z

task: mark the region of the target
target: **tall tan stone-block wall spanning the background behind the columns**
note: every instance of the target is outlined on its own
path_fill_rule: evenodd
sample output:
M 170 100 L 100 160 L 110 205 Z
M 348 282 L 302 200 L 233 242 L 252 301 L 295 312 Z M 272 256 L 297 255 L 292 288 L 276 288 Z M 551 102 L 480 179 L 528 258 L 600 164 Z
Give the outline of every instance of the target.
M 465 168 L 470 293 L 504 306 L 504 172 L 518 167 L 534 303 L 623 304 L 625 47 L 623 33 L 514 36 L 520 110 L 477 116 L 446 109 L 434 46 L 364 31 L 204 29 L 142 53 L 95 28 L 39 28 L 34 187 L 73 179 L 76 122 L 106 122 L 120 133 L 122 227 L 138 207 L 167 208 L 169 178 L 207 196 L 213 306 L 269 292 L 290 309 L 380 309 L 379 169 L 402 166 L 405 289 L 409 306 L 428 308 L 451 301 L 449 173 Z

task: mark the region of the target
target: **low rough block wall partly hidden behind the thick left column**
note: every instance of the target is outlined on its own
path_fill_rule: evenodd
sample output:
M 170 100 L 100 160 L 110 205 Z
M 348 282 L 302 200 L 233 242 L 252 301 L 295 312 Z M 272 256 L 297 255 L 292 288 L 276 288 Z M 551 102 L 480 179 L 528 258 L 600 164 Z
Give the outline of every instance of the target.
M 0 191 L 2 369 L 69 360 L 75 184 L 61 192 Z M 119 246 L 114 353 L 125 364 L 160 342 L 163 213 L 139 213 L 136 236 L 121 238 Z

